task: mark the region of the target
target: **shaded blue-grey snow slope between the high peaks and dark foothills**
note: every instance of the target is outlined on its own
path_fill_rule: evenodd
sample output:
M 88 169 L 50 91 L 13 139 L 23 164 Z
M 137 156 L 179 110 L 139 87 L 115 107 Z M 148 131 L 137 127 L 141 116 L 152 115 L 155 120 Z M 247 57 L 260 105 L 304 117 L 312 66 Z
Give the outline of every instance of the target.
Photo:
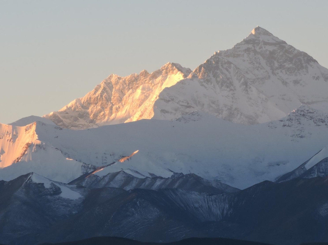
M 314 123 L 311 115 L 321 123 Z M 87 130 L 36 123 L 39 143 L 30 146 L 18 163 L 0 169 L 0 178 L 33 171 L 67 183 L 107 165 L 94 174 L 124 170 L 137 178 L 168 178 L 173 173 L 194 173 L 243 189 L 275 180 L 327 145 L 325 118 L 327 114 L 302 106 L 280 121 L 255 125 L 203 112 L 173 121 L 140 120 Z

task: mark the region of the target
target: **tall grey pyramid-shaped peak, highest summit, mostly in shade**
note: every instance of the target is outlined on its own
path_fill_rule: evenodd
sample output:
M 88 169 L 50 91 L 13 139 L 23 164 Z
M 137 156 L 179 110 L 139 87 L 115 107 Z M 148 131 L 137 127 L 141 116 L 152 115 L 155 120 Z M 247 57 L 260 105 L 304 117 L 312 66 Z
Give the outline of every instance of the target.
M 326 68 L 256 27 L 233 48 L 215 52 L 188 79 L 164 89 L 154 119 L 202 110 L 234 123 L 264 123 L 301 104 L 327 103 L 327 90 Z

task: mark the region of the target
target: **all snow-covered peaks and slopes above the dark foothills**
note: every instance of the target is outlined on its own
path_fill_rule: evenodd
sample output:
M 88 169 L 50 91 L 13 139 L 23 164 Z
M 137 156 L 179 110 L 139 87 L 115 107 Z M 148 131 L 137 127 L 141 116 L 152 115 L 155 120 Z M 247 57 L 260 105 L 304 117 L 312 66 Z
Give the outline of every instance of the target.
M 35 172 L 68 183 L 124 171 L 193 173 L 240 189 L 273 181 L 328 144 L 327 91 L 328 69 L 256 27 L 193 72 L 167 63 L 112 74 L 58 112 L 0 124 L 0 179 Z

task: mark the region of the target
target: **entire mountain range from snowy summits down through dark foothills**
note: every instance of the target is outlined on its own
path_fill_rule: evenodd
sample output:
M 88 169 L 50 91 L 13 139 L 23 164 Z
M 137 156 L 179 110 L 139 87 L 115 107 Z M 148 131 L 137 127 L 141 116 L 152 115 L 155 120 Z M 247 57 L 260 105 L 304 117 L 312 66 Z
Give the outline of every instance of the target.
M 326 68 L 256 27 L 193 72 L 111 75 L 0 124 L 0 242 L 327 241 L 327 91 Z

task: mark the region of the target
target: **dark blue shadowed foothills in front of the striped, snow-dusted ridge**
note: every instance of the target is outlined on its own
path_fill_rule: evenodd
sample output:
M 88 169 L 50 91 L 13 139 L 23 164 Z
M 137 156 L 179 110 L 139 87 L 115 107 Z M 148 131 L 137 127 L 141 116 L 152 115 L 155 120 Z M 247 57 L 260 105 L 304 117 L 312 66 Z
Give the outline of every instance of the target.
M 327 183 L 327 177 L 264 181 L 213 195 L 90 189 L 29 173 L 0 181 L 0 242 L 30 245 L 94 236 L 142 242 L 222 236 L 281 245 L 324 242 Z

